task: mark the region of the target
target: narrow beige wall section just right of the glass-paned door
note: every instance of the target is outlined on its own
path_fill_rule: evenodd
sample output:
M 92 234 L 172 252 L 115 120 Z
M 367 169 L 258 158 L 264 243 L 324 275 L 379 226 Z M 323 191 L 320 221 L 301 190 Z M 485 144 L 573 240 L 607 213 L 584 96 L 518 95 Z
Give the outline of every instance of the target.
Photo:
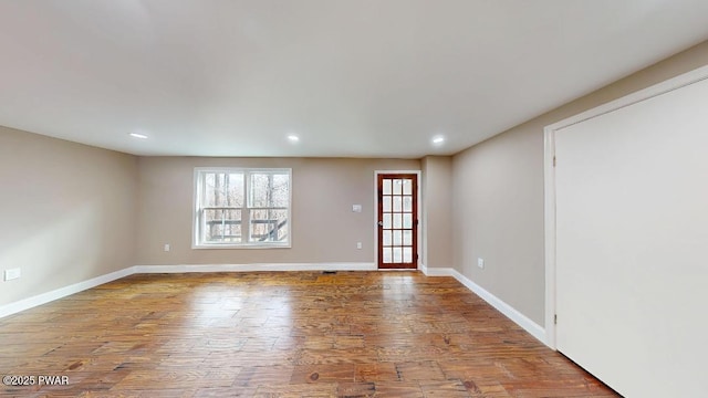
M 452 158 L 427 156 L 423 169 L 423 263 L 451 268 L 452 261 Z

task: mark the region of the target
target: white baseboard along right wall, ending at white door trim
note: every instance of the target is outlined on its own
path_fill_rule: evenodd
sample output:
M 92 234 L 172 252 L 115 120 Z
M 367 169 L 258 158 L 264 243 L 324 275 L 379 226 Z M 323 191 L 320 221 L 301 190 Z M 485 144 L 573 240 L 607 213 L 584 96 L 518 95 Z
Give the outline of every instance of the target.
M 545 329 L 541 327 L 535 322 L 529 320 L 525 315 L 517 311 L 511 305 L 504 303 L 501 298 L 496 295 L 489 293 L 482 286 L 472 282 L 469 277 L 462 275 L 457 270 L 451 268 L 430 268 L 426 269 L 426 275 L 428 276 L 452 276 L 458 282 L 465 285 L 465 287 L 472 291 L 475 294 L 480 296 L 483 301 L 489 303 L 489 305 L 493 306 L 500 313 L 504 314 L 508 318 L 513 321 L 517 325 L 521 326 L 524 331 L 529 332 L 533 337 L 538 338 L 541 343 L 548 345 Z

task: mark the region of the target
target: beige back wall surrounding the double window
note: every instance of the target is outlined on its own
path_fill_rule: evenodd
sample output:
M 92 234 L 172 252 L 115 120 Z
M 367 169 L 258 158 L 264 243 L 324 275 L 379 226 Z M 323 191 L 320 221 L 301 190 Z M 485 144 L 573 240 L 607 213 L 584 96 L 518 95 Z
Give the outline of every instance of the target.
M 144 157 L 138 164 L 140 265 L 373 263 L 374 170 L 420 169 L 419 160 L 345 158 Z M 201 166 L 292 168 L 292 248 L 191 249 L 192 176 Z

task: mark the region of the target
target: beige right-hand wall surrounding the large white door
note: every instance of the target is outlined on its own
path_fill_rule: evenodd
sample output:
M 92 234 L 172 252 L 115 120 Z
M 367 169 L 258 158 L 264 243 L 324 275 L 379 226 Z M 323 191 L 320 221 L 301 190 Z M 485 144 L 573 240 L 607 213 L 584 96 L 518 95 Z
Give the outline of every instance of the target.
M 543 325 L 543 127 L 706 64 L 708 42 L 457 154 L 455 268 Z

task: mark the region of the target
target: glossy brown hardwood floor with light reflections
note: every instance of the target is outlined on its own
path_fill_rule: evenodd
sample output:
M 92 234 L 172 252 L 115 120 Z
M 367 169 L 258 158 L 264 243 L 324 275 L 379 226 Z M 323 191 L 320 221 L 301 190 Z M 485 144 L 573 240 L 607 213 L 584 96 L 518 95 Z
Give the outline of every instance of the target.
M 133 275 L 2 318 L 0 342 L 1 375 L 35 376 L 2 396 L 616 396 L 417 272 Z

